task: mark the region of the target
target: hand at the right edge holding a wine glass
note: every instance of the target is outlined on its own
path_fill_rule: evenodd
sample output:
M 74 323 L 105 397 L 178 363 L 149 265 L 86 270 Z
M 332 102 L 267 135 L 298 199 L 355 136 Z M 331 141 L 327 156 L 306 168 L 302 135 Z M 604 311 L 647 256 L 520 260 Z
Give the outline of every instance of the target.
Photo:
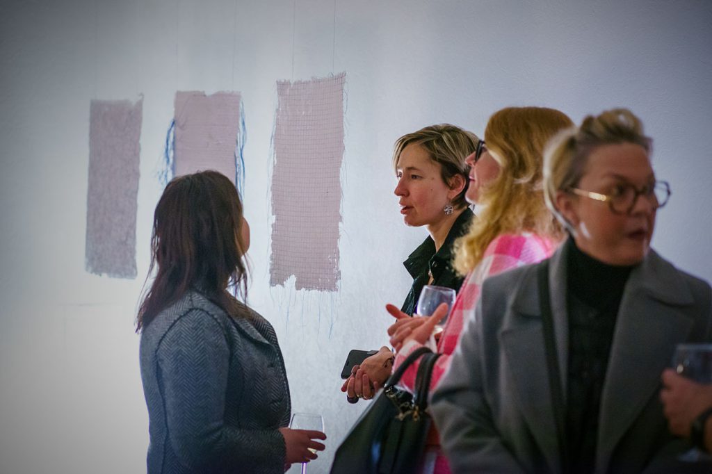
M 674 369 L 665 369 L 662 381 L 660 399 L 670 432 L 689 437 L 693 420 L 712 406 L 712 384 L 698 384 Z

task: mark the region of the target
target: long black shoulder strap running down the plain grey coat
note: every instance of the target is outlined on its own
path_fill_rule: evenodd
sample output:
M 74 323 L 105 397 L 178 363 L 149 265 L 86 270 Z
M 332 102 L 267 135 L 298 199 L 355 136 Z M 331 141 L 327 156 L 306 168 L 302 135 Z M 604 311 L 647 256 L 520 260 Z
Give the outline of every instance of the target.
M 556 339 L 554 337 L 554 317 L 551 313 L 551 300 L 549 295 L 549 260 L 539 265 L 538 272 L 539 305 L 541 310 L 544 349 L 548 365 L 549 386 L 551 388 L 551 404 L 556 422 L 556 434 L 561 450 L 562 472 L 569 472 L 568 449 L 566 443 L 565 404 L 561 389 L 561 369 L 556 353 Z

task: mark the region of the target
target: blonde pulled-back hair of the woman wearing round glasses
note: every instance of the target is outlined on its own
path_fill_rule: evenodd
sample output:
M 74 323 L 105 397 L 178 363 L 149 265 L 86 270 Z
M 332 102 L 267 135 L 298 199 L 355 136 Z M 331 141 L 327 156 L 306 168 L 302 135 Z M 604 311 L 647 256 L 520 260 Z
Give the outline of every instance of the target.
M 586 171 L 590 154 L 603 145 L 632 143 L 652 151 L 652 139 L 643 133 L 643 124 L 627 109 L 606 110 L 587 116 L 581 126 L 560 132 L 544 154 L 544 199 L 546 206 L 571 232 L 572 227 L 556 208 L 558 191 L 575 188 Z

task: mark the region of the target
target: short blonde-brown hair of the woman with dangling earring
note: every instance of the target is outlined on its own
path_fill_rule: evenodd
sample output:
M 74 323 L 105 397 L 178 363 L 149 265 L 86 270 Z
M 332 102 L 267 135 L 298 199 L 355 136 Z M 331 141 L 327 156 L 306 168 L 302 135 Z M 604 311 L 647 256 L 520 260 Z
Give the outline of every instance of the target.
M 393 169 L 397 172 L 400 155 L 409 144 L 417 144 L 428 152 L 430 159 L 440 165 L 440 176 L 445 184 L 457 174 L 465 179 L 465 189 L 452 200 L 456 209 L 467 206 L 465 193 L 469 184 L 469 168 L 465 158 L 477 148 L 477 135 L 449 124 L 430 125 L 396 140 L 393 151 Z

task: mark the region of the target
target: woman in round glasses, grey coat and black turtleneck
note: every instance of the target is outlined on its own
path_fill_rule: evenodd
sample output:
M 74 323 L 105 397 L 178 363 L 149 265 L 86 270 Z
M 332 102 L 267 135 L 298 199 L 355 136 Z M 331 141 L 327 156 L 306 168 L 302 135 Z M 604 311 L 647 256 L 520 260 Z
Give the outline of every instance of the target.
M 570 237 L 482 286 L 431 404 L 454 472 L 700 470 L 658 394 L 676 344 L 710 341 L 712 292 L 650 248 L 670 196 L 650 153 L 624 109 L 548 147 L 545 198 Z

